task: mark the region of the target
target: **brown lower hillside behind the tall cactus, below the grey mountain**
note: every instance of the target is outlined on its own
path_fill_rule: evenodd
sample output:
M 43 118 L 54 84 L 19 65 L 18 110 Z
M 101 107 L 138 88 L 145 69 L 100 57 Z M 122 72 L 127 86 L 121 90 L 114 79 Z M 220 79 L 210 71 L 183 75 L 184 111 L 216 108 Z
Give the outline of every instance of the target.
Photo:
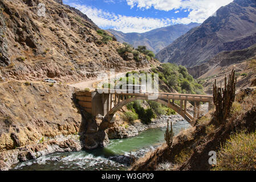
M 207 63 L 188 68 L 188 72 L 194 78 L 202 81 L 207 93 L 212 94 L 212 86 L 216 79 L 218 84 L 224 83 L 225 75 L 229 75 L 232 69 L 237 72 L 237 90 L 250 87 L 256 78 L 256 73 L 250 68 L 251 60 L 256 59 L 256 44 L 238 50 L 220 52 Z

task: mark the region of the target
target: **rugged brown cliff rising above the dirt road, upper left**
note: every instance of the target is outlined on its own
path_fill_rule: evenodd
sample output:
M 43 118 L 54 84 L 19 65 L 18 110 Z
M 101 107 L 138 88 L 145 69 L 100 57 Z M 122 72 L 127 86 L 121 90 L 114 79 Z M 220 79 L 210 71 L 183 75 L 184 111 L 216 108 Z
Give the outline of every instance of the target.
M 44 3 L 45 16 L 38 14 L 38 3 Z M 0 24 L 0 77 L 5 80 L 80 81 L 109 68 L 123 71 L 155 63 L 143 57 L 123 60 L 116 51 L 121 43 L 104 42 L 86 15 L 62 1 L 1 0 Z

